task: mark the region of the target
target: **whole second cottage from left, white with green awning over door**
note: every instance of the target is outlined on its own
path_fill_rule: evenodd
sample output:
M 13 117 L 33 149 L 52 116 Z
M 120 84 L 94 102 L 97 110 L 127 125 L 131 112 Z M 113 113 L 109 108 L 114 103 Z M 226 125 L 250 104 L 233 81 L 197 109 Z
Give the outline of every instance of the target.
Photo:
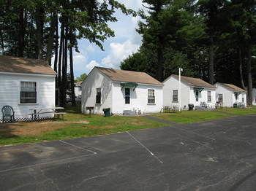
M 144 72 L 94 67 L 82 83 L 82 112 L 110 108 L 113 114 L 140 114 L 162 109 L 162 83 Z

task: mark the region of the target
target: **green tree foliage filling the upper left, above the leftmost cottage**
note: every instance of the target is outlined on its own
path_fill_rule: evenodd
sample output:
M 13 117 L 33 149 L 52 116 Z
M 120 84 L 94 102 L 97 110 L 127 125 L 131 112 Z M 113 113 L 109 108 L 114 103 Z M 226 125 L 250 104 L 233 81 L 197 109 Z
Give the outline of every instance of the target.
M 102 42 L 108 37 L 114 36 L 114 31 L 109 27 L 110 22 L 116 22 L 113 15 L 116 9 L 121 9 L 125 15 L 136 15 L 132 9 L 127 9 L 118 1 L 49 1 L 49 0 L 26 0 L 26 1 L 0 1 L 0 47 L 4 47 L 5 55 L 18 55 L 18 39 L 23 37 L 23 56 L 37 58 L 37 20 L 43 22 L 43 57 L 45 58 L 46 44 L 50 31 L 50 17 L 59 15 L 59 23 L 65 23 L 70 31 L 70 46 L 77 47 L 77 39 L 88 39 L 97 44 L 102 50 Z M 23 17 L 20 17 L 20 10 Z M 39 12 L 40 11 L 40 12 Z M 23 24 L 25 28 L 20 29 Z M 23 36 L 19 36 L 18 31 Z M 58 37 L 58 36 L 57 36 Z

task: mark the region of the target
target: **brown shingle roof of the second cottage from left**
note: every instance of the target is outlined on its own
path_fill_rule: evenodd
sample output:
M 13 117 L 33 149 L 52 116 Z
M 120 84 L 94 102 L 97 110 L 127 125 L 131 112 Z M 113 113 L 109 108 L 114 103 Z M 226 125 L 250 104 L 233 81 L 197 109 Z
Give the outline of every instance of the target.
M 105 76 L 109 77 L 110 80 L 115 82 L 135 82 L 148 85 L 162 85 L 161 82 L 145 72 L 108 69 L 102 67 L 95 68 L 101 71 L 102 74 L 105 74 Z

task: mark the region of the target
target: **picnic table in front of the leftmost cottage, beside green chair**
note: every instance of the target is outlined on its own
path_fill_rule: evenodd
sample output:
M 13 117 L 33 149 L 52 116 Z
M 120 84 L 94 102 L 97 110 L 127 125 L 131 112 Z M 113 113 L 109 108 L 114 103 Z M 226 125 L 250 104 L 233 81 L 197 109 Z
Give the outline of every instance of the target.
M 29 109 L 31 111 L 30 115 L 32 116 L 32 120 L 37 120 L 39 119 L 40 114 L 54 114 L 54 116 L 57 116 L 58 118 L 62 118 L 64 120 L 64 114 L 66 112 L 61 112 L 64 107 L 53 107 L 53 108 L 34 108 L 34 109 Z

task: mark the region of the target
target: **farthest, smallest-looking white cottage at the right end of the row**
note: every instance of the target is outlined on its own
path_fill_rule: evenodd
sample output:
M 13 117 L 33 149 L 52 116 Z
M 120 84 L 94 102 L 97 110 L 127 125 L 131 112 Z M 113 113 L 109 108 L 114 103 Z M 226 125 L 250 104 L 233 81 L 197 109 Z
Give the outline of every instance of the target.
M 244 104 L 246 106 L 246 90 L 236 85 L 216 83 L 216 99 L 222 106 L 233 107 L 233 104 Z

